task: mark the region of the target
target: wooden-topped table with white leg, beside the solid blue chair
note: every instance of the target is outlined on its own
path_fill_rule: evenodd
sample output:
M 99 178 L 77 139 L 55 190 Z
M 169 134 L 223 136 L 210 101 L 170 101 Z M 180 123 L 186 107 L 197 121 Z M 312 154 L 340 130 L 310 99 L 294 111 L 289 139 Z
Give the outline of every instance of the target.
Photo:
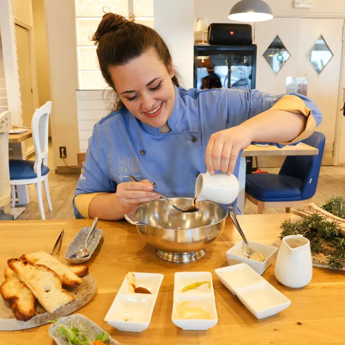
M 273 145 L 258 146 L 250 145 L 243 150 L 240 158 L 238 182 L 239 194 L 237 199 L 237 207 L 241 214 L 245 214 L 245 193 L 246 193 L 246 157 L 255 156 L 316 156 L 319 150 L 313 146 L 304 143 L 298 143 L 294 146 L 285 146 L 282 149 Z

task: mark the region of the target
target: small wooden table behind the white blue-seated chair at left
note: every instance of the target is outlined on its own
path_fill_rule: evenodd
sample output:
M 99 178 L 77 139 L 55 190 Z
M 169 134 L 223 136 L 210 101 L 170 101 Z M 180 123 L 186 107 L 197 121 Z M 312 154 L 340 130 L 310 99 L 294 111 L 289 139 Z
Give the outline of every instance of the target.
M 25 128 L 24 128 L 25 129 Z M 31 129 L 27 129 L 26 133 L 9 134 L 9 144 L 12 144 L 13 159 L 26 159 L 25 151 L 22 147 L 22 142 L 32 137 Z M 27 185 L 17 186 L 18 205 L 27 205 L 30 202 L 30 192 Z M 16 219 L 25 208 L 12 208 L 11 214 Z

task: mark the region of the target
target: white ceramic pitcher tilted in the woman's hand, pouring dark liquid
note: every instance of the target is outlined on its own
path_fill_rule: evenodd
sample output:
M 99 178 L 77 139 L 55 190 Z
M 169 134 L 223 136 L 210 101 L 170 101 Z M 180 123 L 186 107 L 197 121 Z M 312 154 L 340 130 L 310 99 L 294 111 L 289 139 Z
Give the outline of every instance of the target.
M 239 183 L 234 175 L 215 174 L 209 172 L 199 174 L 195 183 L 195 202 L 209 200 L 229 204 L 236 200 Z

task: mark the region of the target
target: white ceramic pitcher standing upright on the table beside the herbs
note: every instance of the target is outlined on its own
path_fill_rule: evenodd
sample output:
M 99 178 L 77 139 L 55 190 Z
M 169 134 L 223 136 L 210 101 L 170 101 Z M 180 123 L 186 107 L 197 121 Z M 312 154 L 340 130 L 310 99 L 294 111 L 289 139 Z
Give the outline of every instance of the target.
M 302 235 L 285 236 L 274 266 L 277 280 L 289 288 L 302 288 L 313 277 L 310 242 Z

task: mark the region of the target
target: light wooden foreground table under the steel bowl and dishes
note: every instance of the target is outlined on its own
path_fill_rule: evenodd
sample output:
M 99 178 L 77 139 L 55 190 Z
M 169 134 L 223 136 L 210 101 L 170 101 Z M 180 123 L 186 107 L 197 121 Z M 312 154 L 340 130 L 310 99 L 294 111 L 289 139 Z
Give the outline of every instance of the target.
M 289 215 L 266 214 L 239 216 L 247 237 L 272 244 L 280 233 L 280 224 Z M 50 252 L 62 228 L 65 230 L 59 260 L 78 230 L 90 226 L 90 220 L 18 221 L 0 225 L 0 271 L 11 257 L 44 250 Z M 89 260 L 90 272 L 97 282 L 97 293 L 90 303 L 79 309 L 121 344 L 343 344 L 345 324 L 345 272 L 314 267 L 313 280 L 303 289 L 289 289 L 274 278 L 274 264 L 263 277 L 291 299 L 292 304 L 278 315 L 257 320 L 249 310 L 219 281 L 214 269 L 227 266 L 225 252 L 240 240 L 230 219 L 220 239 L 206 256 L 191 264 L 172 264 L 158 259 L 153 248 L 145 245 L 134 226 L 127 222 L 98 222 L 103 236 Z M 142 333 L 118 331 L 105 323 L 126 272 L 163 273 L 152 320 Z M 171 322 L 174 273 L 210 271 L 216 296 L 218 324 L 208 331 L 184 331 Z M 2 278 L 0 278 L 0 282 Z M 11 345 L 48 344 L 49 325 L 38 328 L 0 332 L 0 343 Z

